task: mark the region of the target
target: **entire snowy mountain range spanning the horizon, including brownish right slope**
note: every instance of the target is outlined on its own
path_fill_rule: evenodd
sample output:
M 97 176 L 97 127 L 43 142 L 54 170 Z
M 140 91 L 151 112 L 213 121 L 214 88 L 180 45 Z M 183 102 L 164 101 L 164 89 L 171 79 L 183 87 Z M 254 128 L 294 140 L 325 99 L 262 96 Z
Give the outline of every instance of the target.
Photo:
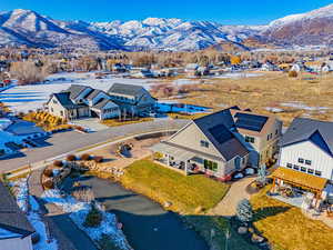
M 268 26 L 224 26 L 211 21 L 164 18 L 83 22 L 54 20 L 32 10 L 0 12 L 0 46 L 193 51 L 226 43 L 241 50 L 251 50 L 258 44 L 332 44 L 332 39 L 333 4 L 287 16 Z

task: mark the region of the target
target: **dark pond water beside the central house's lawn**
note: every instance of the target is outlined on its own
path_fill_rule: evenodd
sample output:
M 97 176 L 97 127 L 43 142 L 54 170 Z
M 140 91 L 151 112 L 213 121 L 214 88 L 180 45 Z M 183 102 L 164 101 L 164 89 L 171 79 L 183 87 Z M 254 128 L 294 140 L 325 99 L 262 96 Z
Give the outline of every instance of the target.
M 97 177 L 68 179 L 64 189 L 72 183 L 92 188 L 95 199 L 107 210 L 117 214 L 123 223 L 123 231 L 135 250 L 208 250 L 204 240 L 193 230 L 188 229 L 173 212 L 152 200 L 129 191 L 119 183 Z

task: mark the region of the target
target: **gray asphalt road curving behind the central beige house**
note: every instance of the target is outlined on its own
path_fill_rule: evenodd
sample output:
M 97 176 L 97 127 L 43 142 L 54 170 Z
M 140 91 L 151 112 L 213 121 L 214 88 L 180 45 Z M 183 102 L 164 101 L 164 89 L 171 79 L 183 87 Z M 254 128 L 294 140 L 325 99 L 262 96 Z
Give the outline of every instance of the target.
M 113 127 L 93 133 L 80 133 L 77 131 L 56 133 L 52 134 L 52 137 L 46 141 L 47 143 L 40 148 L 30 148 L 27 151 L 22 152 L 21 156 L 0 160 L 0 171 L 14 170 L 22 166 L 28 166 L 29 163 L 40 162 L 80 148 L 117 139 L 120 137 L 158 130 L 180 129 L 188 122 L 188 120 L 163 119 L 150 122 Z

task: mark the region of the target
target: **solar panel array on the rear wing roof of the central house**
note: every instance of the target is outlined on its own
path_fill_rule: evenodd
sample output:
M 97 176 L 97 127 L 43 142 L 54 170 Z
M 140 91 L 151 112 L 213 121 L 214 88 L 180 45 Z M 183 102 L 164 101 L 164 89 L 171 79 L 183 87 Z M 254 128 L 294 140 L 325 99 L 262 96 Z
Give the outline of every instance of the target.
M 266 123 L 268 118 L 249 113 L 236 113 L 238 118 L 235 126 L 241 129 L 248 129 L 260 132 Z

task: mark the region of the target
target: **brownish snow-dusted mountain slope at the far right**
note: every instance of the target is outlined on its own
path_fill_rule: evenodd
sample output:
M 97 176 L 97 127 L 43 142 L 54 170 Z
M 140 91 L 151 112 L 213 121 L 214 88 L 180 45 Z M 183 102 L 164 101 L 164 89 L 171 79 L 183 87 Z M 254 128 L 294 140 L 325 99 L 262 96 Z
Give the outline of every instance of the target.
M 333 44 L 333 4 L 272 21 L 261 38 L 285 44 Z

